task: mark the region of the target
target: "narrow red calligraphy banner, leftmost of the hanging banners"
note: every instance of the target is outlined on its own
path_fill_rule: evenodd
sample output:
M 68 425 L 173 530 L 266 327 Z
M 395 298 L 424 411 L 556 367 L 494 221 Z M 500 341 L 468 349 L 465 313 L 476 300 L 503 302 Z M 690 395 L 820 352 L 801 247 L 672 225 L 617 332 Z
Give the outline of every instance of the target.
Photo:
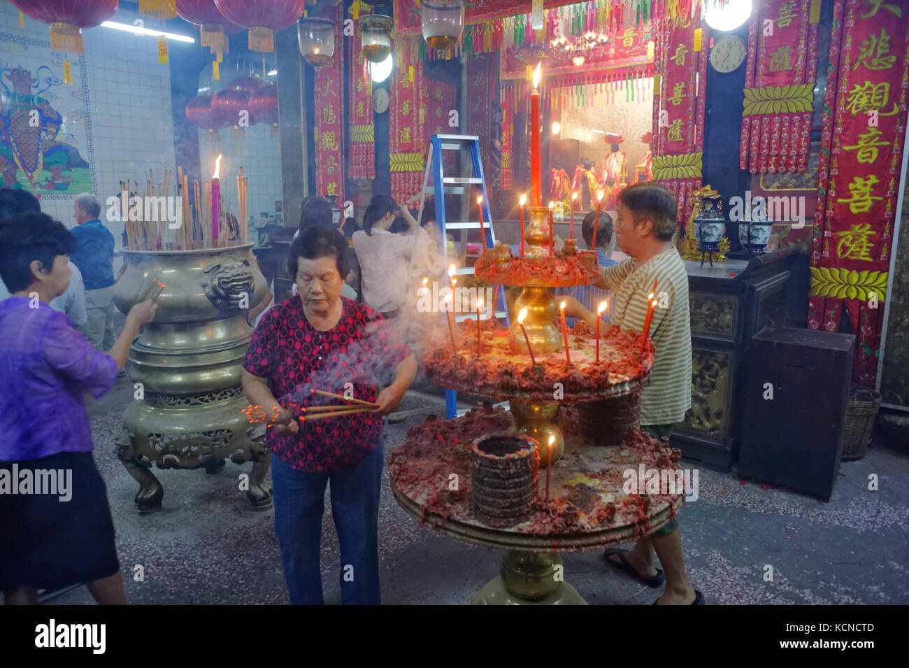
M 325 18 L 335 22 L 335 44 L 342 45 L 341 6 L 331 7 Z M 336 204 L 344 203 L 345 132 L 344 49 L 315 73 L 315 191 Z

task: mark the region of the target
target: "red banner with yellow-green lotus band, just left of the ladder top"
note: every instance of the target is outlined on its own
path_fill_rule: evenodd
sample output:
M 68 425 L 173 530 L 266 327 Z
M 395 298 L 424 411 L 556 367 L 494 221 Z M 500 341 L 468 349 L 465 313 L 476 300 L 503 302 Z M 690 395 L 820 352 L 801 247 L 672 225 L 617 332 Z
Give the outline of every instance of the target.
M 398 40 L 402 43 L 405 40 Z M 395 57 L 395 75 L 388 110 L 392 197 L 405 202 L 423 187 L 426 145 L 426 99 L 423 60 L 405 45 Z

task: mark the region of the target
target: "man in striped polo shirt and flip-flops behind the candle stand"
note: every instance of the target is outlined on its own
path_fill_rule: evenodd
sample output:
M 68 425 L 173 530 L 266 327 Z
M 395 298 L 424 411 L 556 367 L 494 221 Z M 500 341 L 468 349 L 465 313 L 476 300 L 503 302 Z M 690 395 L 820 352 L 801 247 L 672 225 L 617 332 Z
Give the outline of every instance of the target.
M 605 267 L 601 279 L 594 282 L 614 292 L 612 322 L 624 330 L 644 331 L 648 304 L 651 299 L 657 302 L 649 334 L 656 346 L 654 369 L 650 383 L 641 391 L 641 426 L 656 439 L 669 436 L 673 424 L 681 422 L 691 407 L 688 275 L 673 245 L 675 209 L 674 197 L 659 185 L 640 183 L 625 188 L 619 195 L 615 236 L 631 258 Z M 566 304 L 565 315 L 569 314 L 596 324 L 596 315 L 576 300 Z M 654 549 L 665 576 L 654 568 Z M 634 550 L 607 550 L 605 556 L 643 583 L 659 586 L 665 581 L 660 604 L 704 602 L 685 575 L 682 536 L 675 521 L 634 543 Z

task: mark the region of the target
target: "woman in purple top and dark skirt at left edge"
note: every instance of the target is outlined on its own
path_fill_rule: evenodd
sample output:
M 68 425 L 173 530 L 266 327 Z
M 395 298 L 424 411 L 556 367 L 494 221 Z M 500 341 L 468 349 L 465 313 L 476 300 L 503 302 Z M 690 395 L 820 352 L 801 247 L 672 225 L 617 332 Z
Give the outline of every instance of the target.
M 106 394 L 155 304 L 135 305 L 99 353 L 48 302 L 69 283 L 75 238 L 45 214 L 0 223 L 0 589 L 37 603 L 38 588 L 86 583 L 125 603 L 104 480 L 92 458 L 84 396 Z

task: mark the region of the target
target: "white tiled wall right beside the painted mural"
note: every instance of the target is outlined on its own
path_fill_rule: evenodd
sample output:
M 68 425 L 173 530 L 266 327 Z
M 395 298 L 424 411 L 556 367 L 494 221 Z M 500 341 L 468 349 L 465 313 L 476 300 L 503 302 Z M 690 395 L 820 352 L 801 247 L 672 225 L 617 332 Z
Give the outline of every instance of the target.
M 112 20 L 132 24 L 138 17 L 120 10 Z M 0 3 L 0 33 L 46 42 L 48 27 L 26 15 L 23 30 L 15 6 Z M 191 35 L 192 28 L 186 27 L 186 34 Z M 95 149 L 95 194 L 104 204 L 108 196 L 117 193 L 121 179 L 141 179 L 144 192 L 149 168 L 154 170 L 155 180 L 165 166 L 175 169 L 170 65 L 158 63 L 155 37 L 96 27 L 83 30 L 83 41 Z M 78 88 L 81 82 L 75 79 L 74 72 L 73 84 Z M 87 147 L 79 148 L 87 160 Z M 66 225 L 75 224 L 72 199 L 45 198 L 42 210 Z M 123 224 L 108 226 L 119 245 Z

